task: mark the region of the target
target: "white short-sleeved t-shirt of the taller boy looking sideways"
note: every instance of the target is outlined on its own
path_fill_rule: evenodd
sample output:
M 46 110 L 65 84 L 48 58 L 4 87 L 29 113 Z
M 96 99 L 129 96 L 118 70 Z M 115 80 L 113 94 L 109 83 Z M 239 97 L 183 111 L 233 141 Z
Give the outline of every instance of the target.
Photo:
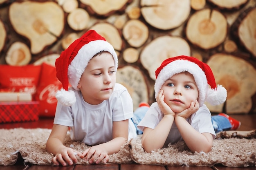
M 76 91 L 76 103 L 63 106 L 57 103 L 54 124 L 70 127 L 70 137 L 87 145 L 98 145 L 112 140 L 113 121 L 129 119 L 129 139 L 136 137 L 133 117 L 132 98 L 121 84 L 115 84 L 108 100 L 98 105 L 84 101 L 81 91 Z

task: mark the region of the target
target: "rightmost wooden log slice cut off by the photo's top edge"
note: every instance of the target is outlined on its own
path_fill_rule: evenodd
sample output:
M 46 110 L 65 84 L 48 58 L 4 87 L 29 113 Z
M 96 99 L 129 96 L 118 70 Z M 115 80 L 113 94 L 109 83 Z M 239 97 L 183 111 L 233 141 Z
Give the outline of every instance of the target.
M 209 3 L 217 6 L 219 9 L 240 9 L 243 7 L 249 0 L 208 0 Z

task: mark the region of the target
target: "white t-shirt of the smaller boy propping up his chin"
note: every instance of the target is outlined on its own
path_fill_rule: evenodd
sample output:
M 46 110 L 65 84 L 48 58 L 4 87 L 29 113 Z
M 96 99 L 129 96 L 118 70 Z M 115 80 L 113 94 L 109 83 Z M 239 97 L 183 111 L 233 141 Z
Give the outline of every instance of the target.
M 159 122 L 162 120 L 163 117 L 164 117 L 164 114 L 161 112 L 159 106 L 157 105 L 157 102 L 155 102 L 150 106 L 146 115 L 139 122 L 137 127 L 139 128 L 139 130 L 142 130 L 142 131 L 144 127 L 155 129 L 155 127 L 157 126 L 157 124 L 159 124 Z M 213 139 L 216 138 L 216 133 L 211 123 L 211 113 L 206 105 L 203 105 L 202 107 L 200 107 L 198 111 L 196 113 L 193 113 L 191 117 L 186 119 L 186 121 L 188 121 L 189 124 L 191 124 L 191 126 L 198 132 L 211 133 L 213 136 Z M 169 143 L 175 144 L 177 141 L 181 141 L 181 140 L 183 139 L 180 135 L 180 132 L 175 122 L 173 122 L 169 135 L 165 141 L 165 145 L 168 145 Z

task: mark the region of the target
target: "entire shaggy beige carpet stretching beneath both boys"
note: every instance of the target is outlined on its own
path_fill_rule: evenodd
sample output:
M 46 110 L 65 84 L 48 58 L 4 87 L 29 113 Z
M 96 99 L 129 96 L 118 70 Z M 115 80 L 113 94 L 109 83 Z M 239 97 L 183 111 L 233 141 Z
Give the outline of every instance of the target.
M 52 154 L 45 150 L 50 129 L 0 129 L 0 165 L 13 165 L 19 159 L 26 163 L 51 165 Z M 80 142 L 71 141 L 69 133 L 65 146 L 82 152 L 89 148 Z M 221 163 L 228 167 L 256 166 L 256 130 L 227 131 L 217 134 L 212 150 L 208 153 L 192 153 L 179 141 L 167 148 L 144 152 L 141 136 L 127 141 L 118 153 L 110 155 L 108 163 L 132 163 L 171 166 L 213 166 Z M 77 164 L 88 164 L 79 159 Z

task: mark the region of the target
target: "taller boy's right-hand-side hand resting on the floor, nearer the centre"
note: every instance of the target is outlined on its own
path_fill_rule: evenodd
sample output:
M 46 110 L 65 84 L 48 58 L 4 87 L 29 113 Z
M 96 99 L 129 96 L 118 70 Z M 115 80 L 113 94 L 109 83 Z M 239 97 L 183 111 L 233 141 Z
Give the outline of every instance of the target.
M 103 159 L 103 163 L 107 163 L 109 160 L 106 150 L 99 145 L 92 146 L 91 148 L 83 151 L 82 157 L 84 157 L 85 160 L 88 160 L 89 163 L 96 164 L 100 163 Z

